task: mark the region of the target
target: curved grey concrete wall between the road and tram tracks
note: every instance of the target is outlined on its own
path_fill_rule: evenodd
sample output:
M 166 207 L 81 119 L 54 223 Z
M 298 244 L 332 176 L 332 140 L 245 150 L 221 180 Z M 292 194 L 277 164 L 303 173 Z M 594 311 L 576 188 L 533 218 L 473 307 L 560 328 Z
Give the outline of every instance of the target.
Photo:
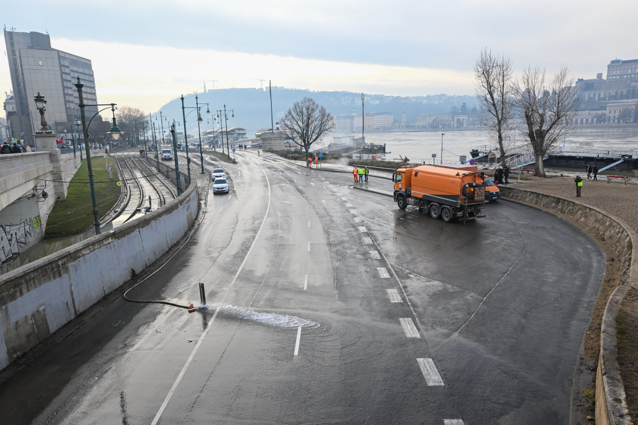
M 140 219 L 0 276 L 0 368 L 130 280 L 131 268 L 142 271 L 161 257 L 188 231 L 198 208 L 193 182 Z

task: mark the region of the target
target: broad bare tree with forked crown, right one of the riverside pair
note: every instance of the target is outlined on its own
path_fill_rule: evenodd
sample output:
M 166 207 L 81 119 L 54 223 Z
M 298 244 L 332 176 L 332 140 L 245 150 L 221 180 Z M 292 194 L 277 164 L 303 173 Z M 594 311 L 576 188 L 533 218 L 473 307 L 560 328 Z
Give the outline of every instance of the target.
M 535 159 L 535 176 L 545 176 L 543 158 L 550 148 L 574 131 L 572 119 L 580 106 L 574 78 L 561 66 L 551 84 L 545 84 L 545 69 L 524 69 L 516 82 L 515 104 L 523 118 L 523 133 L 530 140 Z

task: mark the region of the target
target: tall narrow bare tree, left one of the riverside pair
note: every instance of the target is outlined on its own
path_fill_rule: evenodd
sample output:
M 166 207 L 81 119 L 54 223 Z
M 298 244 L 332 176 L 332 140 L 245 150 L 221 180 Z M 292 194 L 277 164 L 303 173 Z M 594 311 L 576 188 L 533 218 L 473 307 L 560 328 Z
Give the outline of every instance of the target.
M 493 52 L 487 47 L 474 62 L 477 100 L 490 138 L 498 143 L 501 164 L 505 164 L 508 148 L 503 143 L 503 133 L 513 129 L 513 75 L 514 66 L 510 57 Z

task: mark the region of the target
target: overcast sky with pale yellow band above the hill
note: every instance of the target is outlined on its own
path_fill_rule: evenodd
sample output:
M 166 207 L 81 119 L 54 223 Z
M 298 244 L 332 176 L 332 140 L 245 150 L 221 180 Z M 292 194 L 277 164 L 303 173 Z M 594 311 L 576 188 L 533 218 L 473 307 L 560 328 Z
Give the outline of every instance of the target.
M 626 0 L 23 0 L 2 11 L 6 29 L 48 31 L 52 47 L 91 59 L 100 103 L 145 112 L 204 81 L 473 94 L 472 65 L 486 46 L 517 70 L 564 63 L 578 78 L 606 75 L 616 57 L 638 59 L 638 2 Z M 6 55 L 0 85 L 11 90 Z

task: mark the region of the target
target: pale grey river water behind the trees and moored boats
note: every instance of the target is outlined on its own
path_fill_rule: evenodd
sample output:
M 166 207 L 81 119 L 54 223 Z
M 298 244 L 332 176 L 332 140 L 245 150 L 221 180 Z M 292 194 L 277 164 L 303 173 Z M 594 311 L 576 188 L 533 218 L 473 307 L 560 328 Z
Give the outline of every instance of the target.
M 459 162 L 460 155 L 470 159 L 470 150 L 481 145 L 490 145 L 485 130 L 443 130 L 443 131 L 392 131 L 385 133 L 366 133 L 366 142 L 386 145 L 386 159 L 399 160 L 399 155 L 408 157 L 411 162 L 436 162 L 441 159 L 441 133 L 443 135 L 443 162 Z M 520 145 L 524 137 L 521 133 L 512 136 L 512 144 Z M 591 126 L 576 127 L 574 133 L 565 139 L 565 150 L 579 145 L 590 145 L 589 151 L 607 152 L 623 150 L 628 154 L 638 151 L 638 126 Z M 561 144 L 562 145 L 562 144 Z

